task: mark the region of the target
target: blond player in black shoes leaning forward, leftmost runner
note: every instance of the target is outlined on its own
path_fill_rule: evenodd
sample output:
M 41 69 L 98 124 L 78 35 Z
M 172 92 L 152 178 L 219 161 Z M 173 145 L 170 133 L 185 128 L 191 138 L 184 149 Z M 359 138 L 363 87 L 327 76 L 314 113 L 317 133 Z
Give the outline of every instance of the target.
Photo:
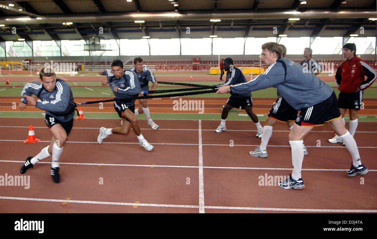
M 56 79 L 51 67 L 41 69 L 39 77 L 41 82 L 32 81 L 25 85 L 18 107 L 23 110 L 28 103 L 31 103 L 35 107 L 45 110 L 44 120 L 50 129 L 52 139 L 50 145 L 44 147 L 39 154 L 26 159 L 20 172 L 25 174 L 26 170 L 33 167 L 38 161 L 52 155 L 51 176 L 55 183 L 59 183 L 59 158 L 73 126 L 76 104 L 69 85 L 61 79 Z M 32 97 L 32 94 L 36 95 L 39 100 Z

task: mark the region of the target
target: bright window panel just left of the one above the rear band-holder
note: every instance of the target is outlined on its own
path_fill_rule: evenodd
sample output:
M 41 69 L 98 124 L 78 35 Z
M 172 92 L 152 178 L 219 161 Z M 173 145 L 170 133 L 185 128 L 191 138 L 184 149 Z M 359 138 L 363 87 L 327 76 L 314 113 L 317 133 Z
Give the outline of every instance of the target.
M 182 55 L 211 55 L 211 38 L 182 38 Z

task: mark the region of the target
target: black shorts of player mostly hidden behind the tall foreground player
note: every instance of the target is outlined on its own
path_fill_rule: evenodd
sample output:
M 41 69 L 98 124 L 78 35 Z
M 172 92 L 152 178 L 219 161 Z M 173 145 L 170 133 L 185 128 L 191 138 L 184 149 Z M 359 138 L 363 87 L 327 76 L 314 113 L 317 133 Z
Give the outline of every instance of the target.
M 268 117 L 281 122 L 295 121 L 297 113 L 298 111 L 291 107 L 283 97 L 279 97 L 271 108 L 270 113 L 268 113 Z

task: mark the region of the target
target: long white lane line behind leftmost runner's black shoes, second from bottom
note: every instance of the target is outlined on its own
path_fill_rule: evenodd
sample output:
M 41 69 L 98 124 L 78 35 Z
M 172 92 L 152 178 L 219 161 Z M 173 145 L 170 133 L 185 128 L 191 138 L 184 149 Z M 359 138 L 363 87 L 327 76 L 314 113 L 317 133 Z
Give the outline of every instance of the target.
M 17 160 L 0 160 L 0 163 L 24 163 L 25 161 Z M 38 162 L 42 164 L 51 164 L 51 162 Z M 116 163 L 62 163 L 70 165 L 84 165 L 84 166 L 122 166 L 122 167 L 179 167 L 179 168 L 194 168 L 199 169 L 200 166 L 181 166 L 181 165 L 149 165 L 149 164 L 116 164 Z M 274 167 L 213 167 L 202 166 L 203 169 L 248 169 L 248 170 L 292 170 L 292 168 L 274 168 Z M 302 171 L 348 171 L 349 169 L 302 169 Z M 368 169 L 369 172 L 377 172 L 377 169 Z M 204 185 L 204 184 L 203 184 Z

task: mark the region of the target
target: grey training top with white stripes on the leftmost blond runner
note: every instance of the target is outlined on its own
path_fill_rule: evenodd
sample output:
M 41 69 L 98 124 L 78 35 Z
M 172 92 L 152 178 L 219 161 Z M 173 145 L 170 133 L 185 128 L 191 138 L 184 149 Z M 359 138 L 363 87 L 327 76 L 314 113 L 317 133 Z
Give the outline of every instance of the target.
M 31 81 L 26 83 L 21 92 L 21 102 L 28 104 L 24 94 L 39 98 L 35 107 L 45 110 L 47 114 L 54 116 L 62 122 L 73 119 L 75 115 L 76 104 L 73 99 L 72 90 L 67 82 L 56 79 L 55 89 L 52 92 L 47 91 L 40 81 Z

